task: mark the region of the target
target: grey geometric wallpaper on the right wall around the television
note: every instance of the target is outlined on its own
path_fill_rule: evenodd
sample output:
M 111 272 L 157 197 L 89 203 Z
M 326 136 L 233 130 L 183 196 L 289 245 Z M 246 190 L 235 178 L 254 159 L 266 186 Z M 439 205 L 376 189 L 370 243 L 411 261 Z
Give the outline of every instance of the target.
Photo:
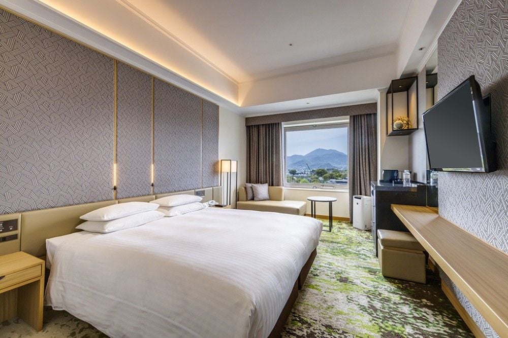
M 492 95 L 499 169 L 439 173 L 439 213 L 508 252 L 508 2 L 463 0 L 438 41 L 439 96 L 474 74 Z M 488 337 L 497 336 L 461 292 L 448 284 Z

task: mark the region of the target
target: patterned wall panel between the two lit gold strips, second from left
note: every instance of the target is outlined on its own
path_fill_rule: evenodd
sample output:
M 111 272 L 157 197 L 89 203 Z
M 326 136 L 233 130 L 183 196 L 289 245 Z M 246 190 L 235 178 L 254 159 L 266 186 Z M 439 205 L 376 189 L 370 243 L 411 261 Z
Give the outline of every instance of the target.
M 152 77 L 117 63 L 117 198 L 151 194 Z

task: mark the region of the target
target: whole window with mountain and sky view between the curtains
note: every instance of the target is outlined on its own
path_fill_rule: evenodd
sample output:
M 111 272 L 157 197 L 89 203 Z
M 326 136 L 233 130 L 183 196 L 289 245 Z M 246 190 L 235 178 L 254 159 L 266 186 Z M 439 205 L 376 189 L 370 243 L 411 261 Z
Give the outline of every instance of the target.
M 348 125 L 284 126 L 284 185 L 347 189 Z

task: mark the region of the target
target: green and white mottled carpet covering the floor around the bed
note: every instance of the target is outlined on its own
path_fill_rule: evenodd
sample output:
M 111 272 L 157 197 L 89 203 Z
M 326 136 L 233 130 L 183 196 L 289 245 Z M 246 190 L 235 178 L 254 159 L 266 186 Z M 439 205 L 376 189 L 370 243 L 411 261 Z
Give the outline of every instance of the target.
M 424 285 L 380 274 L 370 232 L 335 222 L 317 250 L 283 337 L 473 337 L 437 276 Z M 18 319 L 0 324 L 5 338 L 100 336 L 91 325 L 50 308 L 39 333 Z

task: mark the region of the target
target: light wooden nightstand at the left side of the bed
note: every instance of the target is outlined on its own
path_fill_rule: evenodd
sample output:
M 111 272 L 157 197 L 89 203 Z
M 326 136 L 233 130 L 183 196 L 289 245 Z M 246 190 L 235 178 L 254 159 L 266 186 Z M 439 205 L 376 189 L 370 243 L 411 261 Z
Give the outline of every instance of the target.
M 44 260 L 26 252 L 0 256 L 0 322 L 18 316 L 42 330 Z

